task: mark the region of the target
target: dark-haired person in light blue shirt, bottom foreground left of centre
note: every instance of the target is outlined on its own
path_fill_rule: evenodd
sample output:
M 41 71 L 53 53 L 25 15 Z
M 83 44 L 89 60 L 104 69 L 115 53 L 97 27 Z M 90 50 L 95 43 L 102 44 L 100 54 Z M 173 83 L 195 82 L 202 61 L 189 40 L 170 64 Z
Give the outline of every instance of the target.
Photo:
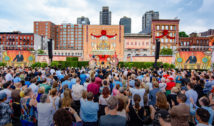
M 80 117 L 85 126 L 97 126 L 99 104 L 93 102 L 93 93 L 87 93 L 87 100 L 80 100 Z

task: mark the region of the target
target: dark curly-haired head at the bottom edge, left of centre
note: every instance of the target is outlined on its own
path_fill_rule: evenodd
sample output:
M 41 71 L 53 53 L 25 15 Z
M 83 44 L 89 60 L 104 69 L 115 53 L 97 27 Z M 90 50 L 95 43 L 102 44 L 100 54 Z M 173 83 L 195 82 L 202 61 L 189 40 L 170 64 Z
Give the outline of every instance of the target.
M 53 120 L 56 126 L 70 126 L 74 118 L 68 110 L 58 109 L 53 115 Z

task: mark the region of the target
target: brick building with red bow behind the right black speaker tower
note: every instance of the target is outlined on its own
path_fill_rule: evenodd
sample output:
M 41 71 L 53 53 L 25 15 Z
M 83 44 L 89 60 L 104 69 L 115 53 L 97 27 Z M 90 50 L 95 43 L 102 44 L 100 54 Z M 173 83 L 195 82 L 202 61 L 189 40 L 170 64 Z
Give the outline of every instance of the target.
M 156 39 L 160 39 L 160 49 L 170 48 L 176 50 L 179 42 L 179 21 L 178 19 L 152 20 L 152 45 L 151 54 L 155 54 Z

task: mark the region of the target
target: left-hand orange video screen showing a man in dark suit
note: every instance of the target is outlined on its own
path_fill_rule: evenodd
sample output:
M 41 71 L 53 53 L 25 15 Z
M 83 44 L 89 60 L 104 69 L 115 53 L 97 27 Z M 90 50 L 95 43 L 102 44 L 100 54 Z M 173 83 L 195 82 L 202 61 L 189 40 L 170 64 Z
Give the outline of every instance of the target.
M 2 61 L 9 66 L 31 66 L 35 55 L 31 51 L 8 50 L 3 52 Z

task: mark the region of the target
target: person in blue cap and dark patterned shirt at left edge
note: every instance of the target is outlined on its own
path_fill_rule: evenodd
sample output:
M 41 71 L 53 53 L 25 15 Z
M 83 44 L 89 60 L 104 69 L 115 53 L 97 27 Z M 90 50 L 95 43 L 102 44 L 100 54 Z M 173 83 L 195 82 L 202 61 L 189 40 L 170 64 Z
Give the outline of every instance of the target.
M 11 114 L 13 113 L 10 105 L 5 103 L 7 94 L 0 92 L 0 126 L 11 126 Z

